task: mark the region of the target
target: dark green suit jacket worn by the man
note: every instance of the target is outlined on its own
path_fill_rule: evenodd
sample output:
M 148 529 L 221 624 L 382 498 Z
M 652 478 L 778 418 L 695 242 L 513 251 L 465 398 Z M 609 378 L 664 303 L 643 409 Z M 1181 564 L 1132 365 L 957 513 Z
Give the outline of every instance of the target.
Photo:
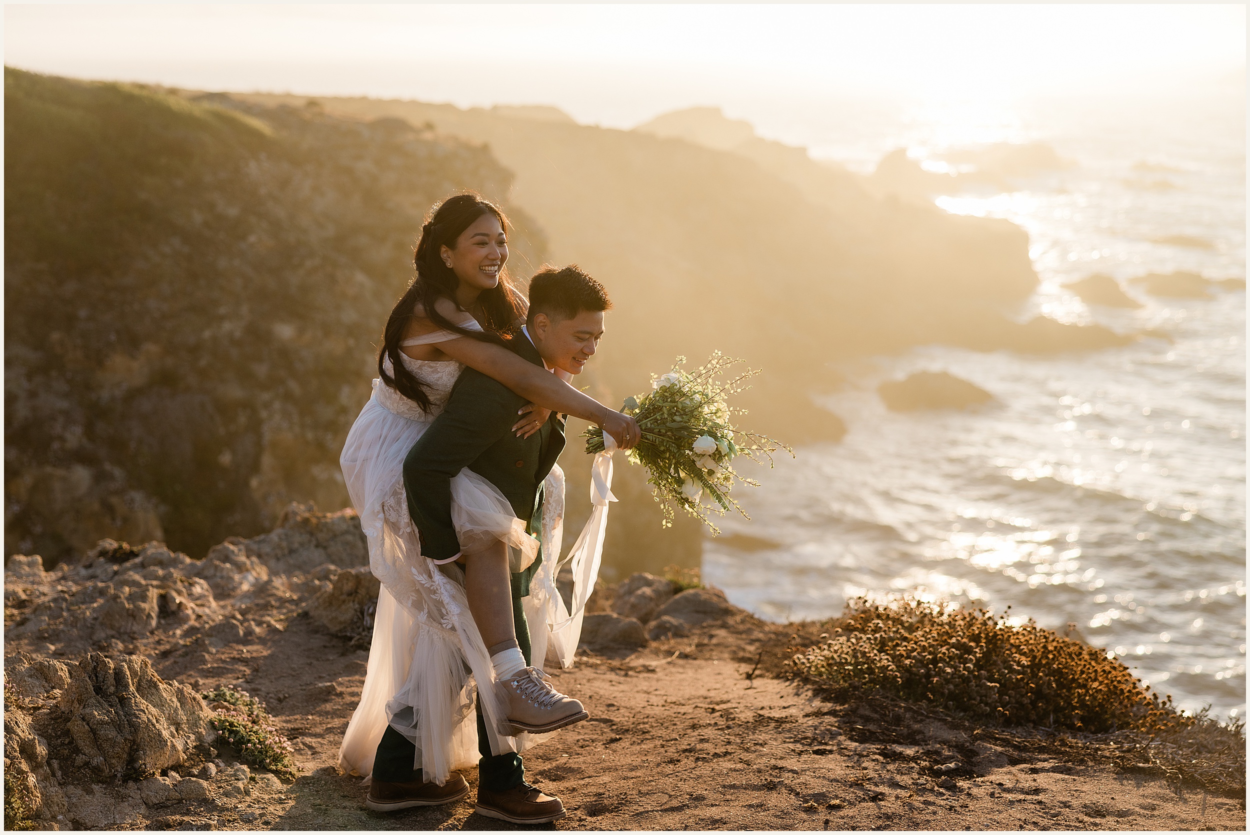
M 520 330 L 510 348 L 521 358 L 542 365 L 538 349 Z M 451 525 L 451 479 L 469 468 L 496 488 L 512 505 L 529 532 L 542 530 L 542 480 L 564 449 L 564 421 L 552 414 L 534 435 L 520 439 L 512 431 L 525 398 L 472 369 L 456 380 L 448 405 L 404 459 L 408 510 L 421 535 L 421 554 L 446 560 L 460 550 Z M 512 575 L 514 594 L 529 594 L 529 580 L 542 561 Z

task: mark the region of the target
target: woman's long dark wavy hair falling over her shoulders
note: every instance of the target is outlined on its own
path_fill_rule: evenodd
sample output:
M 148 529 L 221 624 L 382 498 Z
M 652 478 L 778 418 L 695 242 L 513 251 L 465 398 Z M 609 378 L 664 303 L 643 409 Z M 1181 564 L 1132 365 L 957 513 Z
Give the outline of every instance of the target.
M 391 315 L 386 320 L 386 329 L 382 331 L 382 348 L 378 352 L 378 374 L 382 381 L 401 395 L 412 400 L 422 410 L 430 410 L 430 396 L 422 384 L 404 366 L 400 342 L 404 340 L 404 328 L 408 320 L 415 315 L 416 306 L 420 305 L 425 316 L 442 330 L 449 330 L 461 336 L 479 339 L 490 342 L 502 342 L 511 339 L 511 330 L 518 321 L 525 319 L 526 304 L 524 296 L 512 288 L 511 280 L 505 270 L 499 271 L 499 284 L 490 290 L 482 290 L 478 296 L 481 304 L 484 331 L 469 330 L 452 324 L 439 312 L 435 301 L 450 299 L 456 308 L 456 288 L 460 280 L 455 270 L 442 261 L 441 249 L 456 248 L 456 240 L 464 230 L 469 229 L 479 218 L 492 214 L 499 219 L 499 225 L 508 232 L 508 218 L 495 204 L 482 200 L 472 192 L 458 194 L 448 198 L 440 205 L 431 209 L 430 219 L 421 226 L 421 240 L 416 245 L 416 254 L 412 261 L 416 265 L 416 276 L 408 285 L 408 290 L 395 302 Z M 391 372 L 385 368 L 386 358 L 391 360 Z

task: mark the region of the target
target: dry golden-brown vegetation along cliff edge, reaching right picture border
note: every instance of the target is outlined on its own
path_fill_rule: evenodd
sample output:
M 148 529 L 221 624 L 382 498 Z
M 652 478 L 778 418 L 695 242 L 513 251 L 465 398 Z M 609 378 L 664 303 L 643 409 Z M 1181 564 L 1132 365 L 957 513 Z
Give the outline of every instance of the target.
M 1245 789 L 1245 724 L 1179 712 L 1104 650 L 1008 614 L 859 599 L 786 668 L 841 699 L 886 695 L 989 724 L 1072 731 L 1128 765 Z

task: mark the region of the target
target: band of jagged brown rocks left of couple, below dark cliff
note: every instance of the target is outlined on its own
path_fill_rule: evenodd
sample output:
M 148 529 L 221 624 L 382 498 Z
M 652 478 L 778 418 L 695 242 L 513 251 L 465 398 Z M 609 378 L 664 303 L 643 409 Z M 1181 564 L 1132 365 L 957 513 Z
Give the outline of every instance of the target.
M 378 581 L 361 568 L 368 564 L 355 512 L 301 505 L 269 534 L 230 539 L 202 560 L 161 542 L 115 540 L 51 571 L 39 556 L 18 554 L 5 566 L 5 635 L 30 650 L 74 655 L 124 651 L 161 629 L 220 649 L 266 629 L 264 618 L 241 619 L 239 610 L 271 595 L 302 595 L 315 620 L 356 635 L 371 626 L 378 600 Z

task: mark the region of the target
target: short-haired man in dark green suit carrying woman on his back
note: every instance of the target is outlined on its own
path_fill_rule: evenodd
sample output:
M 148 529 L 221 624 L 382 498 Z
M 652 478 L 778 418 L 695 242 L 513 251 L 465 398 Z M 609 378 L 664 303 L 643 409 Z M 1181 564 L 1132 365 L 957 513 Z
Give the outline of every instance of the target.
M 586 360 L 595 354 L 604 334 L 604 311 L 610 308 L 611 301 L 602 285 L 578 266 L 544 269 L 530 281 L 526 324 L 514 334 L 510 348 L 535 365 L 580 374 Z M 552 414 L 534 435 L 516 438 L 512 425 L 522 405 L 524 398 L 466 368 L 452 388 L 442 414 L 412 446 L 404 461 L 404 488 L 409 512 L 420 531 L 424 556 L 446 564 L 460 554 L 460 542 L 451 522 L 450 480 L 466 466 L 499 488 L 512 505 L 516 518 L 528 520 L 526 532 L 538 535 L 541 531 L 542 480 L 564 449 L 564 420 Z M 545 555 L 540 549 L 539 556 L 528 569 L 511 575 L 511 615 L 516 641 L 505 642 L 515 649 L 505 649 L 496 655 L 499 648 L 489 648 L 492 662 L 516 650 L 524 656 L 524 665 L 518 658 L 515 666 L 521 668 L 532 661 L 521 598 L 529 595 L 530 580 L 545 556 L 559 559 L 558 554 Z M 474 614 L 478 619 L 478 612 Z M 504 676 L 499 678 L 502 680 Z M 518 676 L 520 678 L 522 676 Z M 580 702 L 566 696 L 560 699 L 562 701 L 546 699 L 546 708 L 541 710 L 532 702 L 522 701 L 521 709 L 530 711 L 526 719 L 535 728 L 541 722 L 559 726 L 560 722 L 569 724 L 585 718 Z M 538 701 L 541 702 L 542 699 Z M 510 712 L 509 716 L 511 719 L 514 714 Z M 559 799 L 525 782 L 520 755 L 491 755 L 480 705 L 478 749 L 481 752 L 478 764 L 479 814 L 514 824 L 545 824 L 564 815 Z M 468 794 L 468 784 L 455 772 L 442 786 L 424 782 L 420 769 L 412 768 L 414 759 L 415 746 L 388 725 L 374 760 L 368 799 L 370 809 L 386 811 L 436 805 Z

